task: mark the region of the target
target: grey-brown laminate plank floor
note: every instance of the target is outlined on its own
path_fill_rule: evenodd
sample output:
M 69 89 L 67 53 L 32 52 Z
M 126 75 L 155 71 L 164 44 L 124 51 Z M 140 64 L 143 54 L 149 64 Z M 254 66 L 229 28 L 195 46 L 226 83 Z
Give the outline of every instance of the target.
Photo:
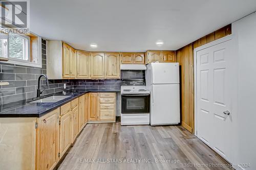
M 212 165 L 228 163 L 181 126 L 119 122 L 88 124 L 58 169 L 231 169 Z

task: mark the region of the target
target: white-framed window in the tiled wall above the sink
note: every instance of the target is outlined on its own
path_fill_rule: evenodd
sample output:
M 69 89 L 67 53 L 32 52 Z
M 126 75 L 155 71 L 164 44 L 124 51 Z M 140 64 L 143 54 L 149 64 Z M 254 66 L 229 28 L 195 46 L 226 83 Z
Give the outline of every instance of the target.
M 41 38 L 31 33 L 1 32 L 0 57 L 9 58 L 8 63 L 41 67 Z

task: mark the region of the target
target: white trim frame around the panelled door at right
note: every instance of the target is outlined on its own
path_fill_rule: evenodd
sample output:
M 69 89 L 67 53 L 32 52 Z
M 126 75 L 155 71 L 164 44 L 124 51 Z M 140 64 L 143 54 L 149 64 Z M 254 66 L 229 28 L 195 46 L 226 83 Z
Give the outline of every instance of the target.
M 218 40 L 215 40 L 215 41 L 212 41 L 212 42 L 209 42 L 207 44 L 204 44 L 202 46 L 199 46 L 197 48 L 194 49 L 194 123 L 195 123 L 195 135 L 197 135 L 197 52 L 201 51 L 201 50 L 204 50 L 205 48 L 208 48 L 208 47 L 211 47 L 211 46 L 214 46 L 214 45 L 217 45 L 217 44 L 220 44 L 220 43 L 223 43 L 223 42 L 226 42 L 226 41 L 234 41 L 233 43 L 234 44 L 237 44 L 237 37 L 234 36 L 233 34 L 231 35 L 227 35 L 223 38 L 220 38 Z M 236 45 L 234 45 L 233 47 L 235 47 Z M 234 49 L 235 50 L 235 49 Z M 236 58 L 236 56 L 234 56 Z M 236 58 L 237 59 L 237 58 Z M 238 67 L 237 67 L 238 68 Z M 237 84 L 235 85 L 236 88 L 237 88 Z M 234 109 L 235 112 L 236 112 L 236 115 L 237 115 L 237 108 Z M 235 123 L 235 122 L 234 122 Z

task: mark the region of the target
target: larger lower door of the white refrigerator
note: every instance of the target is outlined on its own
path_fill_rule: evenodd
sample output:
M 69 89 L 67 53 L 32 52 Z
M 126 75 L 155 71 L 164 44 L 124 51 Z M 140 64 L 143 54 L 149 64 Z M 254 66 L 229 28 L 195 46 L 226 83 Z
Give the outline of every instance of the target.
M 180 123 L 179 84 L 152 85 L 150 112 L 151 125 Z

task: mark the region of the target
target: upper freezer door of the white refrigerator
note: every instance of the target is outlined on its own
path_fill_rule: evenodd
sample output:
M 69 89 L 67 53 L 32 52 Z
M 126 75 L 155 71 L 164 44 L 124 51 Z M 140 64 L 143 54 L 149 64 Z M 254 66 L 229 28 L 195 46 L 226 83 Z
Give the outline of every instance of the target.
M 179 63 L 152 63 L 152 84 L 173 84 L 179 81 Z

